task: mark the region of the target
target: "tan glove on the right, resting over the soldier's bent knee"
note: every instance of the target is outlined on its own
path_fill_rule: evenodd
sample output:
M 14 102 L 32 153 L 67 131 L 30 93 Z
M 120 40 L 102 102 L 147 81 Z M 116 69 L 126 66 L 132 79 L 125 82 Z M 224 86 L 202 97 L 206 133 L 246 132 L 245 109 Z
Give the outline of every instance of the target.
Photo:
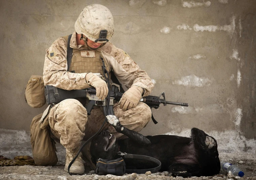
M 140 86 L 132 86 L 125 93 L 119 101 L 120 109 L 126 111 L 132 107 L 136 107 L 142 98 L 143 89 Z

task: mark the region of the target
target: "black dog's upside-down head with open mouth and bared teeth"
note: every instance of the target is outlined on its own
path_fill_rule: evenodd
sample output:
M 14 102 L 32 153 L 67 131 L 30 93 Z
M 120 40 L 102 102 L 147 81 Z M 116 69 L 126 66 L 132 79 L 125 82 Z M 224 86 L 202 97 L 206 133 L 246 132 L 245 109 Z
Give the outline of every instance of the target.
M 115 143 L 116 138 L 110 134 L 108 130 L 102 131 L 93 140 L 90 146 L 90 154 L 92 161 L 96 164 L 96 160 L 114 159 L 116 152 L 118 152 L 118 145 Z

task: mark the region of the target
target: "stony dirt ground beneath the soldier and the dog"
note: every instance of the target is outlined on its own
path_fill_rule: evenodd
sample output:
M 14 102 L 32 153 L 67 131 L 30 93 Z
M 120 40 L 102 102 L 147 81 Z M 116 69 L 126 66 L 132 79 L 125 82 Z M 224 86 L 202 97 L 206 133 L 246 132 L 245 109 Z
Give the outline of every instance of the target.
M 220 160 L 226 160 L 232 164 L 237 164 L 245 173 L 245 176 L 238 178 L 240 180 L 244 179 L 253 179 L 256 180 L 256 154 L 255 153 L 220 153 Z M 9 167 L 0 167 L 0 180 L 2 179 L 44 179 L 44 180 L 73 180 L 73 179 L 90 179 L 90 180 L 104 180 L 104 179 L 123 179 L 123 180 L 151 180 L 151 179 L 214 179 L 222 180 L 228 179 L 227 174 L 220 173 L 213 177 L 191 177 L 191 178 L 182 178 L 182 177 L 172 177 L 170 174 L 164 174 L 161 172 L 153 173 L 151 175 L 145 174 L 125 174 L 123 176 L 98 176 L 96 174 L 89 173 L 91 170 L 87 164 L 85 164 L 85 174 L 82 176 L 70 176 L 67 172 L 64 171 L 64 162 L 60 161 L 57 166 L 9 166 Z M 231 179 L 236 180 L 235 177 Z

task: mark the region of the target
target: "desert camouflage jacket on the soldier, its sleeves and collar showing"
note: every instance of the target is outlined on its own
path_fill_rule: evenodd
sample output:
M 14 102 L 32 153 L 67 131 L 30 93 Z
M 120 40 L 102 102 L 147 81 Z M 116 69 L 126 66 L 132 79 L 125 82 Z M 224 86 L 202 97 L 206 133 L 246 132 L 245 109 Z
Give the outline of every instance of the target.
M 44 85 L 52 85 L 61 89 L 85 89 L 90 87 L 85 81 L 87 73 L 67 72 L 67 45 L 68 42 L 60 37 L 54 41 L 50 48 L 46 49 L 43 81 Z M 78 45 L 76 42 L 76 32 L 71 36 L 70 47 L 78 50 L 86 50 L 84 45 Z M 53 58 L 49 52 L 55 52 Z M 133 85 L 142 87 L 145 92 L 143 96 L 148 96 L 154 85 L 147 73 L 127 55 L 123 50 L 116 48 L 111 42 L 98 49 L 102 56 L 105 57 L 106 63 L 115 76 L 127 88 Z

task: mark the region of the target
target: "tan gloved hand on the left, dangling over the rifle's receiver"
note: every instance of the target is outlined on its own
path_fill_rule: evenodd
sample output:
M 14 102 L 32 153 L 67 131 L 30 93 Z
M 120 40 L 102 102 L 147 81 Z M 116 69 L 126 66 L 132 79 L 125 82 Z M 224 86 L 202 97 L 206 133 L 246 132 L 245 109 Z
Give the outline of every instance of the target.
M 104 100 L 107 95 L 108 95 L 108 86 L 107 83 L 99 78 L 97 75 L 93 74 L 93 73 L 88 73 L 85 76 L 85 81 L 90 85 L 95 87 L 96 89 L 96 96 L 101 99 Z

